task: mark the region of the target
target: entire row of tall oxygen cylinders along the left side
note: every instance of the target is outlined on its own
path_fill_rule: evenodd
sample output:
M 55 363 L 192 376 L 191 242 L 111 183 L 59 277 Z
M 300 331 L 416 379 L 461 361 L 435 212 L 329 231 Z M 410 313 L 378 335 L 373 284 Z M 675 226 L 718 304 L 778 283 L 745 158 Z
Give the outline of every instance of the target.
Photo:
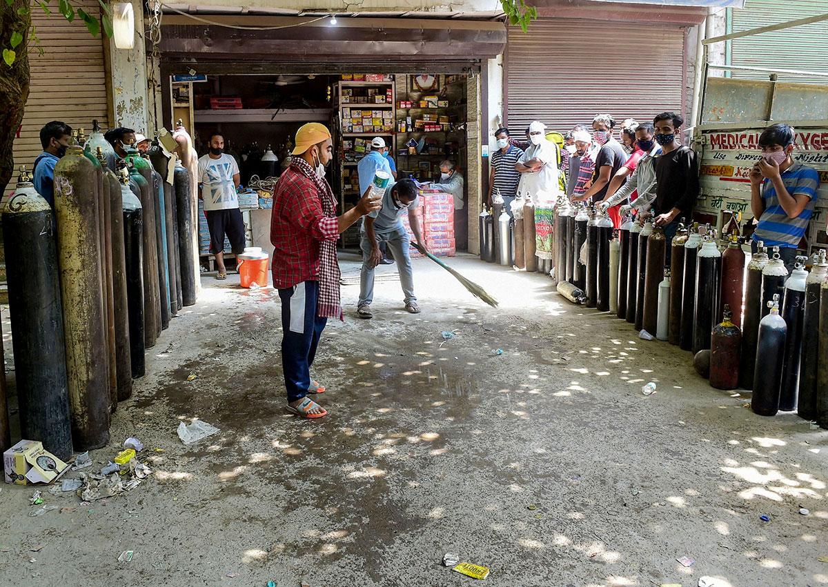
M 176 160 L 167 183 L 156 143 L 116 173 L 103 135 L 83 139 L 55 164 L 54 210 L 25 173 L 2 209 L 22 436 L 61 459 L 108 443 L 146 349 L 195 304 L 199 271 L 190 171 Z

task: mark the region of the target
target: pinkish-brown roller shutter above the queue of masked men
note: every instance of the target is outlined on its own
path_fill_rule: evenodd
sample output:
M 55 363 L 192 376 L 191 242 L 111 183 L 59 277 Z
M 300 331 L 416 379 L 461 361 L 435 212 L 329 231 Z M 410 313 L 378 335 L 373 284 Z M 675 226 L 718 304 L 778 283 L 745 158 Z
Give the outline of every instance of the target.
M 634 22 L 541 19 L 509 27 L 508 125 L 567 131 L 596 113 L 652 120 L 682 112 L 685 29 Z

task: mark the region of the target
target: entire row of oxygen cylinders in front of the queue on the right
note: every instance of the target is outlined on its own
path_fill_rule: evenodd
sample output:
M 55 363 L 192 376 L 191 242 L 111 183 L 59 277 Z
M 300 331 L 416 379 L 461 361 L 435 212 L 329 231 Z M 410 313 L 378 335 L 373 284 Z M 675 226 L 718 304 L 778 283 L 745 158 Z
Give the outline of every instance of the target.
M 532 204 L 525 205 L 523 255 L 518 221 L 496 209 L 480 217 L 481 256 L 518 268 L 522 258 L 527 271 L 548 272 L 530 267 L 526 245 L 532 244 L 534 257 L 534 215 Z M 687 228 L 682 219 L 668 256 L 667 238 L 651 221 L 627 218 L 614 230 L 606 214 L 566 200 L 556 207 L 553 243 L 551 276 L 561 295 L 691 351 L 696 363 L 709 364 L 701 371 L 709 373 L 711 386 L 753 390 L 758 414 L 796 410 L 828 427 L 824 251 L 810 272 L 804 268 L 806 258 L 798 257 L 788 275 L 778 250 L 769 256 L 759 243 L 746 265 L 736 235 L 723 241 L 710 225 Z

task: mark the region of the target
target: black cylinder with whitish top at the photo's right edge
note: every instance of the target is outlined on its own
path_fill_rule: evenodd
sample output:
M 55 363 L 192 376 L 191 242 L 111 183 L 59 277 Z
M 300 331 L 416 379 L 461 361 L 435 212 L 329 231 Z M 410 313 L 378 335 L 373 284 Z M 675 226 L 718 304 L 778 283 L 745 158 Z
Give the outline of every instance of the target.
M 805 282 L 805 316 L 802 321 L 802 366 L 799 373 L 797 413 L 805 420 L 816 420 L 816 380 L 819 364 L 826 361 L 828 347 L 820 346 L 820 287 L 828 277 L 826 251 L 816 256 Z M 820 360 L 822 359 L 822 360 Z

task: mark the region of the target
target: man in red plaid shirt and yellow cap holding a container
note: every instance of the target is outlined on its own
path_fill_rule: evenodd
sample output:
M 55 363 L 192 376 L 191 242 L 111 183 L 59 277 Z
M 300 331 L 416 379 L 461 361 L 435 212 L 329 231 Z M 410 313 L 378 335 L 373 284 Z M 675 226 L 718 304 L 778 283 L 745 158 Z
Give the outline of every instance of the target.
M 328 318 L 343 320 L 336 241 L 351 224 L 378 210 L 382 200 L 373 200 L 368 192 L 337 217 L 334 192 L 325 180 L 333 143 L 324 125 L 301 127 L 292 155 L 273 190 L 270 224 L 273 286 L 282 299 L 282 370 L 287 411 L 321 418 L 328 412 L 306 396 L 325 391 L 312 385 L 310 365 Z

